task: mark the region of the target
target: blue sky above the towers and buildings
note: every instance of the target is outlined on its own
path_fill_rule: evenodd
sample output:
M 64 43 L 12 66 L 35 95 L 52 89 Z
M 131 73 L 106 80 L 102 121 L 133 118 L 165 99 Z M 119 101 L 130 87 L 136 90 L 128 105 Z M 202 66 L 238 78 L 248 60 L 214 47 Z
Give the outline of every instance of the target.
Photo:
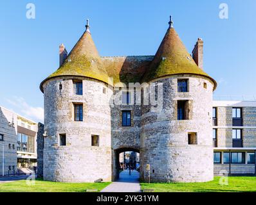
M 35 19 L 26 18 L 28 3 L 35 4 Z M 228 19 L 219 18 L 221 3 Z M 153 55 L 169 15 L 189 53 L 203 38 L 204 69 L 219 83 L 216 96 L 256 96 L 255 13 L 255 0 L 2 0 L 0 105 L 42 122 L 39 84 L 58 69 L 59 45 L 69 52 L 87 18 L 100 55 Z

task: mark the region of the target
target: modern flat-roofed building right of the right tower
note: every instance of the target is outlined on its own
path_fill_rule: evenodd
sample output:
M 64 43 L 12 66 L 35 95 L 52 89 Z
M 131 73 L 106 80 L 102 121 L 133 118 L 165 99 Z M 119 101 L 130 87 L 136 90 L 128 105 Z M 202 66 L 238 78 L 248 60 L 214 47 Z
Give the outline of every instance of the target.
M 256 174 L 256 101 L 214 101 L 214 174 Z

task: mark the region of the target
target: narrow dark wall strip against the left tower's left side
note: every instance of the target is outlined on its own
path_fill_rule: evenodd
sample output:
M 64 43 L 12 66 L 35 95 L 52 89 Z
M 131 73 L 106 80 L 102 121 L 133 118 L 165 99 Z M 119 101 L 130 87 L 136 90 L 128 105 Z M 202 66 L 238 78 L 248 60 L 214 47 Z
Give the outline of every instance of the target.
M 39 122 L 37 131 L 37 177 L 43 176 L 44 125 Z

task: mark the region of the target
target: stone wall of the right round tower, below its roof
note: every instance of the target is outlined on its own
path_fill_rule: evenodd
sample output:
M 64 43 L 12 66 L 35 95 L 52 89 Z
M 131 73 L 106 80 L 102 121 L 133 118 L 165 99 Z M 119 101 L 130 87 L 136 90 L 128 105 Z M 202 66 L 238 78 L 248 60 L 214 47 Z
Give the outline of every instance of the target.
M 179 78 L 189 80 L 189 92 L 178 92 Z M 212 82 L 184 74 L 158 79 L 156 83 L 163 83 L 163 109 L 142 109 L 142 179 L 148 180 L 145 167 L 150 164 L 153 182 L 212 180 Z M 178 100 L 190 101 L 190 120 L 177 120 Z M 188 132 L 197 133 L 197 145 L 188 145 Z

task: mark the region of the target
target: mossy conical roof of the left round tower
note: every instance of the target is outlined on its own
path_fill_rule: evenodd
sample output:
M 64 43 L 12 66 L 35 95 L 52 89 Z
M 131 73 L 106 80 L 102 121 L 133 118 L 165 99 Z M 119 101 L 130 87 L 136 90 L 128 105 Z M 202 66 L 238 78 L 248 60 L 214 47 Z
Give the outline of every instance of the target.
M 86 31 L 70 51 L 64 63 L 58 70 L 42 81 L 41 90 L 45 81 L 59 76 L 82 76 L 109 83 L 104 64 L 91 37 L 88 21 Z

